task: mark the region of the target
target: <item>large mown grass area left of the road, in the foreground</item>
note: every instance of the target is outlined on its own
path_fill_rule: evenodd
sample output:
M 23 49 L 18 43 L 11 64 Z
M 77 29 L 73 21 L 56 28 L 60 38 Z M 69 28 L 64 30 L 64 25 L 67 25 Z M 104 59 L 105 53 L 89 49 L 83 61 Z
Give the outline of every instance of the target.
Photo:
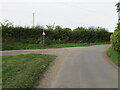
M 2 87 L 31 88 L 56 56 L 20 54 L 2 56 Z

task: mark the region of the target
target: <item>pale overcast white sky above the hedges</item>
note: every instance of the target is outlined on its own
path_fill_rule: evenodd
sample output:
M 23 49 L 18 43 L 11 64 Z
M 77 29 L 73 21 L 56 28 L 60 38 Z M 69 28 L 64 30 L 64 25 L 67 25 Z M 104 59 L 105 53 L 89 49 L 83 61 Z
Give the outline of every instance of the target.
M 89 2 L 88 2 L 89 1 Z M 118 14 L 118 0 L 2 0 L 0 21 L 9 20 L 14 25 L 60 25 L 72 29 L 83 26 L 100 26 L 113 32 Z

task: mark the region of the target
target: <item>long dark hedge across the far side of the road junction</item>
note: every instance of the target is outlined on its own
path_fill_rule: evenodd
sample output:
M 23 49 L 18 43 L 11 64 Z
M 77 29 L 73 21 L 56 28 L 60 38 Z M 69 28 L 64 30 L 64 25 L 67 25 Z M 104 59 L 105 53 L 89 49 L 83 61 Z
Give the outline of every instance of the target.
M 95 43 L 95 42 L 109 42 L 111 33 L 105 28 L 101 27 L 78 27 L 74 30 L 71 28 L 62 28 L 60 26 L 47 28 L 44 27 L 20 27 L 13 26 L 9 23 L 1 24 L 2 37 L 4 41 L 13 41 L 22 43 L 41 43 L 42 32 L 45 31 L 46 44 L 59 43 Z M 13 40 L 12 40 L 13 39 Z

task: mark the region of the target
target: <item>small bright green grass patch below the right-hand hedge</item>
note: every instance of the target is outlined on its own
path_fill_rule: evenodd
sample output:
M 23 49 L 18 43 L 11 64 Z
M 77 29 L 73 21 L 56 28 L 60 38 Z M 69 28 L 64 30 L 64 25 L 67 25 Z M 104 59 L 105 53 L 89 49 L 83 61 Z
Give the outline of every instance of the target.
M 111 60 L 120 67 L 120 53 L 115 51 L 112 47 L 108 49 L 107 52 L 108 56 L 111 58 Z

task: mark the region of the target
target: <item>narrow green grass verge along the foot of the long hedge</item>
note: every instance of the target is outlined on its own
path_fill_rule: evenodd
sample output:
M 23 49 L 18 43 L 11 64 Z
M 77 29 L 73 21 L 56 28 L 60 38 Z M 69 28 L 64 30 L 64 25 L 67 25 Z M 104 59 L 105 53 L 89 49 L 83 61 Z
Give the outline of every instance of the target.
M 93 45 L 104 45 L 105 43 L 67 43 L 67 44 L 54 44 L 48 46 L 40 46 L 39 44 L 23 44 L 23 43 L 3 43 L 2 50 L 22 50 L 22 49 L 46 49 L 46 48 L 63 48 L 63 47 L 82 47 Z

